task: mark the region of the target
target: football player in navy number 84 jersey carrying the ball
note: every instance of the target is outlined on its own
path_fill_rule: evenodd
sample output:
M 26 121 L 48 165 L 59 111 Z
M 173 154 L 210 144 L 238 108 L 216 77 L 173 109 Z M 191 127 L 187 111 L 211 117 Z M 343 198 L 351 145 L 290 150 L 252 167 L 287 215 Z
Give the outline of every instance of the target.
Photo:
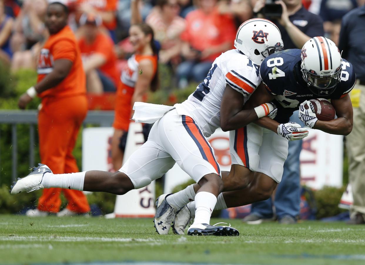
M 239 183 L 246 181 L 249 184 L 244 189 L 223 192 L 223 196 L 219 196 L 219 205 L 223 207 L 215 209 L 238 207 L 266 200 L 272 195 L 283 174 L 283 161 L 288 154 L 287 140 L 295 138 L 296 126 L 291 127 L 287 123 L 293 111 L 299 109 L 300 120 L 310 128 L 337 135 L 351 132 L 353 110 L 348 94 L 356 76 L 352 65 L 341 58 L 338 48 L 330 39 L 314 37 L 301 50 L 288 49 L 271 54 L 262 62 L 260 75 L 264 86 L 255 90 L 243 108 L 254 106 L 257 102 L 272 101 L 278 108 L 277 115 L 273 119 L 262 117 L 255 124 L 245 127 L 245 152 L 250 163 L 251 160 L 253 163 L 259 160 L 257 170 L 242 175 L 234 174 L 231 169 L 230 181 L 224 181 L 225 190 L 227 184 L 237 183 L 239 186 Z M 331 99 L 337 118 L 319 121 L 314 106 L 308 101 L 316 98 Z M 284 138 L 275 137 L 276 132 Z M 291 136 L 286 137 L 285 133 L 290 132 Z M 183 234 L 185 226 L 193 218 L 193 208 L 194 202 L 189 202 L 176 214 L 174 229 L 178 227 L 178 234 Z

